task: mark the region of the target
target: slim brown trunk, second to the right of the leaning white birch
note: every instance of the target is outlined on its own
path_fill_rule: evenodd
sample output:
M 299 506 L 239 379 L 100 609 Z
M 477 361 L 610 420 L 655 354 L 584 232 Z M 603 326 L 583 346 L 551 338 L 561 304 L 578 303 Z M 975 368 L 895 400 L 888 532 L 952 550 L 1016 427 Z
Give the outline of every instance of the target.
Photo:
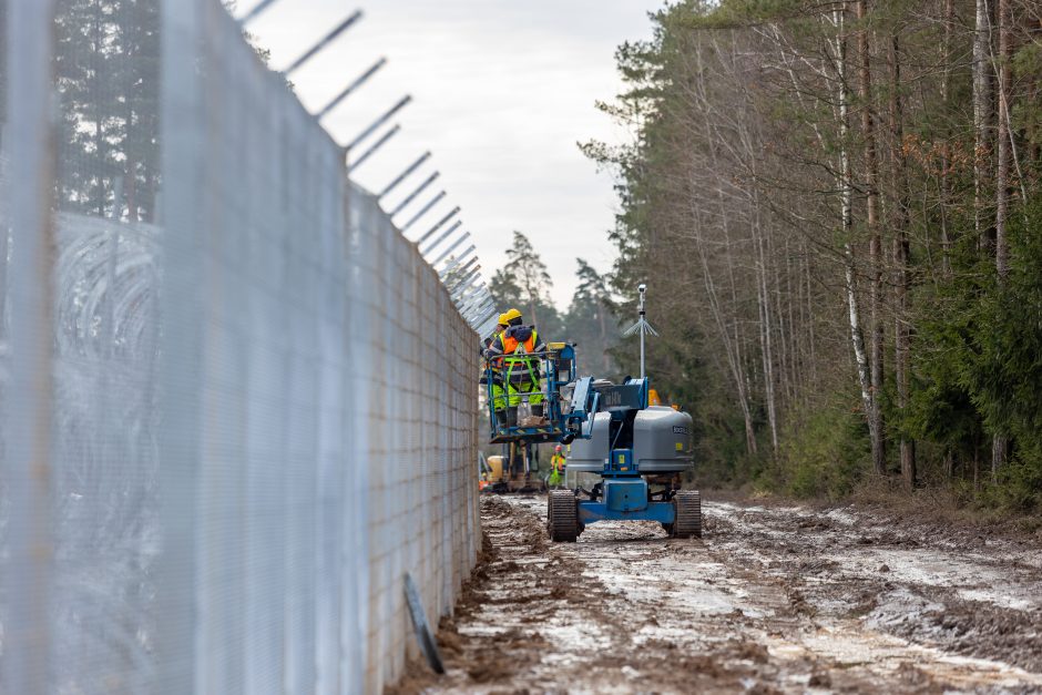
M 893 186 L 893 370 L 897 379 L 897 407 L 905 415 L 908 407 L 908 370 L 910 328 L 908 325 L 908 177 L 905 156 L 903 104 L 901 103 L 900 44 L 897 34 L 890 38 L 887 52 L 890 63 L 890 174 Z M 901 477 L 909 489 L 916 487 L 916 442 L 905 433 L 900 437 Z

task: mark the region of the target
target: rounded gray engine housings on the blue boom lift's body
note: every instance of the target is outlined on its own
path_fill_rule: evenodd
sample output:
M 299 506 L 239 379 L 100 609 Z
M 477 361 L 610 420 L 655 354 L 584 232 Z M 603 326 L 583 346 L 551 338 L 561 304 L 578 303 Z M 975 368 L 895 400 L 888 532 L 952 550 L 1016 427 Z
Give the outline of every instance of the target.
M 612 451 L 610 412 L 594 412 L 590 439 L 572 442 L 568 469 L 600 473 Z M 695 464 L 692 419 L 665 406 L 639 410 L 633 421 L 633 461 L 642 474 L 681 473 Z

